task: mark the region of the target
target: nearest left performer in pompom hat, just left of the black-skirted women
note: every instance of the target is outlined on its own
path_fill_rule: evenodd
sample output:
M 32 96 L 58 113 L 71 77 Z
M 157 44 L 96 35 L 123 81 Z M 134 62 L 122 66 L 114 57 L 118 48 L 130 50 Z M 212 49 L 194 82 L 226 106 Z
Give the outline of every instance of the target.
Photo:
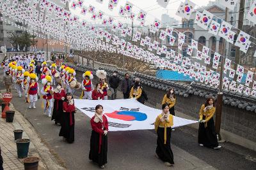
M 51 117 L 51 108 L 52 108 L 52 94 L 53 88 L 51 86 L 52 78 L 51 76 L 45 76 L 42 80 L 44 87 L 41 89 L 41 94 L 44 99 L 44 115 Z

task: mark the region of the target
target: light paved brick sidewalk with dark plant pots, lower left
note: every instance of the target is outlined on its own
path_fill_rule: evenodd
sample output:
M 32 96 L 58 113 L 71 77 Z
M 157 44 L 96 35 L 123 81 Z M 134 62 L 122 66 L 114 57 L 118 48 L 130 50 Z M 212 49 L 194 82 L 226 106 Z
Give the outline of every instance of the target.
M 1 107 L 0 107 L 1 108 Z M 30 139 L 28 157 L 39 157 L 38 169 L 65 169 L 58 166 L 58 162 L 52 156 L 47 146 L 42 143 L 35 129 L 29 124 L 22 114 L 10 104 L 10 110 L 15 111 L 13 123 L 6 122 L 5 118 L 0 118 L 0 145 L 3 156 L 4 169 L 23 169 L 22 159 L 17 158 L 17 146 L 14 141 L 13 130 L 22 129 L 22 138 Z

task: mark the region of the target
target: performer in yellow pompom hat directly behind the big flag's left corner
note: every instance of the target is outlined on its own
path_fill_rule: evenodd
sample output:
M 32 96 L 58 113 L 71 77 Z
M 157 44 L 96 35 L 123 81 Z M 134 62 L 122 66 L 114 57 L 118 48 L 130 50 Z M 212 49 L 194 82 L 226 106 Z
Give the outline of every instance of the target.
M 84 80 L 81 83 L 81 88 L 82 88 L 82 94 L 80 96 L 80 99 L 88 99 L 92 100 L 92 91 L 93 91 L 93 85 L 92 85 L 92 79 L 93 79 L 93 74 L 91 71 L 85 71 L 83 74 Z

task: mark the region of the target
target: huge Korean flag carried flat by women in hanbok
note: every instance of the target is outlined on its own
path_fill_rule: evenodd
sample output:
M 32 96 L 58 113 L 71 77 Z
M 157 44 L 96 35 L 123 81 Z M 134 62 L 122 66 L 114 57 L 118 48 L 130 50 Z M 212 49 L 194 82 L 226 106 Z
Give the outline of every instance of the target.
M 154 122 L 162 110 L 145 106 L 135 99 L 118 100 L 85 100 L 74 99 L 77 109 L 92 118 L 95 115 L 95 106 L 101 104 L 103 113 L 108 118 L 109 131 L 132 131 L 154 129 Z M 197 121 L 173 117 L 173 127 L 195 124 Z

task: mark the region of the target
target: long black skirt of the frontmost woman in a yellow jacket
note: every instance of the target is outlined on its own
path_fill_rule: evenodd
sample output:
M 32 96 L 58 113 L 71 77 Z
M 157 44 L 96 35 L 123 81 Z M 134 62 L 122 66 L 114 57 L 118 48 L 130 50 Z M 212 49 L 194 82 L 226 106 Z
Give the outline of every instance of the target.
M 163 162 L 169 162 L 170 164 L 174 164 L 173 152 L 171 149 L 171 133 L 172 128 L 167 127 L 166 144 L 164 144 L 164 127 L 158 127 L 156 154 L 159 157 L 159 159 L 163 160 Z

